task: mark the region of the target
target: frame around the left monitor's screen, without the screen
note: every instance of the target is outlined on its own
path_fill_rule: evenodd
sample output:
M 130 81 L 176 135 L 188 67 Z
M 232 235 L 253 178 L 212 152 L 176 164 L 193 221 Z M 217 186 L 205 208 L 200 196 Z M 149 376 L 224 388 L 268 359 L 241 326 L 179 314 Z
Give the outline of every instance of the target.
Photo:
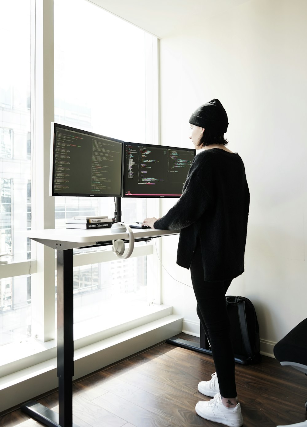
M 106 140 L 119 142 L 122 145 L 122 159 L 121 159 L 121 182 L 120 182 L 120 192 L 115 194 L 91 194 L 91 193 L 56 193 L 54 191 L 54 167 L 55 167 L 55 132 L 57 128 L 67 129 L 72 132 L 79 132 L 85 135 L 92 135 L 99 138 L 104 138 Z M 124 141 L 116 138 L 108 137 L 105 135 L 100 135 L 94 132 L 90 132 L 84 129 L 74 128 L 72 126 L 63 125 L 61 123 L 51 123 L 51 141 L 50 141 L 50 176 L 49 176 L 49 196 L 61 196 L 61 197 L 122 197 L 123 192 L 123 169 L 124 169 Z

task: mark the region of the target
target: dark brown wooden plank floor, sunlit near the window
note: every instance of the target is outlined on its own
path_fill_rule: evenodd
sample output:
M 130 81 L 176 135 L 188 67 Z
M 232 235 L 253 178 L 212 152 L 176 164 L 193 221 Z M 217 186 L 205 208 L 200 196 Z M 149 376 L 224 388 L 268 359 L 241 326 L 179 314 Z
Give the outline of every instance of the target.
M 188 339 L 181 334 L 180 337 Z M 277 360 L 236 363 L 237 393 L 245 427 L 274 427 L 307 418 L 307 378 Z M 212 357 L 162 343 L 96 372 L 73 386 L 74 423 L 80 427 L 214 427 L 194 410 L 200 380 L 214 372 Z M 29 396 L 30 398 L 30 396 Z M 39 399 L 57 411 L 57 393 Z M 0 426 L 38 427 L 20 409 L 0 417 Z

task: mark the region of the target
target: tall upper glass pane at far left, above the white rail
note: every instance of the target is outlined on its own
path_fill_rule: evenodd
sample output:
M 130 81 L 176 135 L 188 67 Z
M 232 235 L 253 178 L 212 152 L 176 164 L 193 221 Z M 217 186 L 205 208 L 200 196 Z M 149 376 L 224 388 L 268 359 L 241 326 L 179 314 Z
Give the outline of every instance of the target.
M 0 67 L 0 229 L 11 233 L 6 243 L 1 239 L 0 253 L 9 252 L 14 261 L 22 261 L 28 246 L 19 231 L 29 228 L 31 213 L 30 0 L 1 2 L 0 16 L 0 39 L 5 40 L 1 45 L 5 66 Z

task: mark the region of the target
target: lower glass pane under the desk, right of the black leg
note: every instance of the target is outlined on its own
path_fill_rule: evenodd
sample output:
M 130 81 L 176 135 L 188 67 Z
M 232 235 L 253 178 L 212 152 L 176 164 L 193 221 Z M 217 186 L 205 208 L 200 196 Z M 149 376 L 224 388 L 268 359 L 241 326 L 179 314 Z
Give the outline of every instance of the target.
M 146 257 L 110 261 L 74 269 L 74 324 L 104 318 L 117 323 L 131 315 L 131 307 L 147 301 Z M 86 307 L 86 309 L 85 309 Z

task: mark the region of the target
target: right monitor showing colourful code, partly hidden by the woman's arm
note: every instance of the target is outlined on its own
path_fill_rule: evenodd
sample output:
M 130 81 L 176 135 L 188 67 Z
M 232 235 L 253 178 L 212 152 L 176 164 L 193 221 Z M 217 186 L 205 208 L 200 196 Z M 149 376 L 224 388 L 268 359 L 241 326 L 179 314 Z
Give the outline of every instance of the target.
M 124 197 L 180 197 L 195 149 L 125 142 Z

